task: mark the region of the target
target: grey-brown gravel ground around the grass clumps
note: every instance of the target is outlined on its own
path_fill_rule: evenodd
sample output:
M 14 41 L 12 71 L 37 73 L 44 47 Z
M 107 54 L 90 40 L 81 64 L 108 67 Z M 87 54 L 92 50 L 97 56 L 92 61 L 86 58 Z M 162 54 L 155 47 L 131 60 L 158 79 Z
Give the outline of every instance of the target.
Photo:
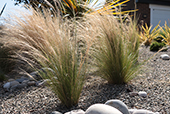
M 140 48 L 139 60 L 155 54 L 149 48 Z M 160 59 L 159 52 L 143 66 L 137 77 L 126 85 L 110 85 L 100 77 L 88 76 L 77 106 L 67 109 L 48 87 L 29 87 L 12 93 L 0 88 L 0 114 L 49 114 L 52 111 L 84 111 L 92 104 L 105 103 L 110 99 L 123 101 L 128 108 L 148 109 L 160 114 L 170 114 L 170 60 Z M 2 84 L 1 84 L 2 86 Z M 145 91 L 146 98 L 130 97 L 129 92 Z

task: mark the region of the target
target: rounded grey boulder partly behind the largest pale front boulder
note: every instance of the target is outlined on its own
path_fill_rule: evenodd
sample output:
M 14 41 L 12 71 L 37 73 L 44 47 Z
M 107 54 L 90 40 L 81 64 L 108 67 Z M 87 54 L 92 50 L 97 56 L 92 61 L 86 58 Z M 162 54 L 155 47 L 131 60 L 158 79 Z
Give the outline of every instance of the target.
M 118 109 L 123 114 L 129 114 L 128 107 L 118 99 L 108 100 L 105 104 Z

